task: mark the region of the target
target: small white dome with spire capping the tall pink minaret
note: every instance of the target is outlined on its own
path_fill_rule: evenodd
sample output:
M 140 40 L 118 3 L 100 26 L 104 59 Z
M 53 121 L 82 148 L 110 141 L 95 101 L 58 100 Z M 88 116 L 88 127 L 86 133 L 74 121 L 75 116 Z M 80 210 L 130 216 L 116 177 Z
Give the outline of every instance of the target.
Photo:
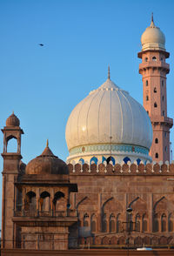
M 142 51 L 146 50 L 162 50 L 165 51 L 164 33 L 156 27 L 151 18 L 151 25 L 148 27 L 141 37 Z

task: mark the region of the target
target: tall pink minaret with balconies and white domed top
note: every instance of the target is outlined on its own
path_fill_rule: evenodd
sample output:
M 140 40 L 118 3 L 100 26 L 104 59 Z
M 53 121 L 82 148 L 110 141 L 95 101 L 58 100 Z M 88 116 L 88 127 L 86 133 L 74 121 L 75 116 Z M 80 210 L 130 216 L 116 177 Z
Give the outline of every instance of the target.
M 170 53 L 165 51 L 164 33 L 156 27 L 151 16 L 151 25 L 142 37 L 142 58 L 139 73 L 143 79 L 144 109 L 151 118 L 153 140 L 150 155 L 153 161 L 170 161 L 170 129 L 173 120 L 167 117 L 166 74 L 170 65 L 165 59 Z

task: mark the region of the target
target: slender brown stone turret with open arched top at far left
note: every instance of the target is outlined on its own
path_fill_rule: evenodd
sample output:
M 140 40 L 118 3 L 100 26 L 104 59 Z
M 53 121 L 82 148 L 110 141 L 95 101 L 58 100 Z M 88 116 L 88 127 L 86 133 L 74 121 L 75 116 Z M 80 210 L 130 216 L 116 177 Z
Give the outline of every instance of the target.
M 19 119 L 12 113 L 6 120 L 3 128 L 3 207 L 2 207 L 2 248 L 12 249 L 17 227 L 12 218 L 16 208 L 17 189 L 15 182 L 20 173 L 21 161 L 21 135 L 23 130 L 19 127 Z M 8 152 L 10 139 L 17 139 L 17 152 Z

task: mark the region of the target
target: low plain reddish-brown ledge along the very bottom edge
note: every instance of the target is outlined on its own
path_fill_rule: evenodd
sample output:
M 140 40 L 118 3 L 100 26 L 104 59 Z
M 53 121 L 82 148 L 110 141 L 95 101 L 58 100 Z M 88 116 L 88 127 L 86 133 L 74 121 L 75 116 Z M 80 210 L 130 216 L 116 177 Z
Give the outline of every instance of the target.
M 1 256 L 47 256 L 47 255 L 54 255 L 54 256 L 71 256 L 71 255 L 90 255 L 90 256 L 126 256 L 128 255 L 127 250 L 102 250 L 102 249 L 97 249 L 97 250 L 68 250 L 68 251 L 34 251 L 34 250 L 1 250 Z M 166 249 L 161 249 L 161 250 L 152 250 L 152 251 L 135 251 L 135 250 L 130 250 L 129 255 L 133 256 L 142 256 L 142 255 L 147 255 L 147 256 L 167 256 L 167 255 L 174 255 L 174 250 L 166 250 Z

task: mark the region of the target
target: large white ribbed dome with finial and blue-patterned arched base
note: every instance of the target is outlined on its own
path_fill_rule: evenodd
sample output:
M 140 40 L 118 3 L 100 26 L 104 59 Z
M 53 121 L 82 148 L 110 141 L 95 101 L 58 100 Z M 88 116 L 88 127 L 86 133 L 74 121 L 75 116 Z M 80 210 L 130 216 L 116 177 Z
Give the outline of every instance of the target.
M 71 111 L 65 133 L 70 163 L 151 161 L 151 120 L 141 104 L 110 80 L 110 70 L 104 84 Z

